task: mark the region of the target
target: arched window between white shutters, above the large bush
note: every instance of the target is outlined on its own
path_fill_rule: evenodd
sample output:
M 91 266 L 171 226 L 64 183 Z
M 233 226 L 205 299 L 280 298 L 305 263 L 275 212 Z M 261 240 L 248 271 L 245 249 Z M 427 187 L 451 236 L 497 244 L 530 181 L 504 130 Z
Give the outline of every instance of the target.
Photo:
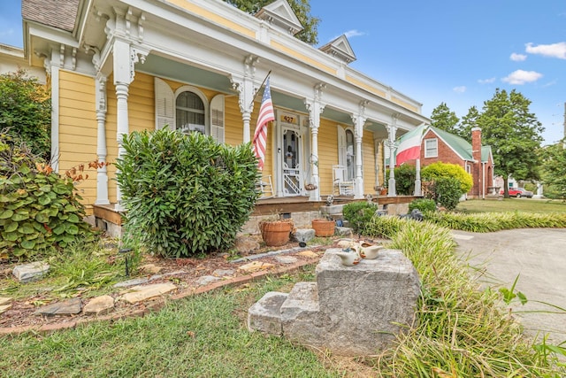
M 200 96 L 185 90 L 175 100 L 175 125 L 188 132 L 198 131 L 206 134 L 204 103 Z

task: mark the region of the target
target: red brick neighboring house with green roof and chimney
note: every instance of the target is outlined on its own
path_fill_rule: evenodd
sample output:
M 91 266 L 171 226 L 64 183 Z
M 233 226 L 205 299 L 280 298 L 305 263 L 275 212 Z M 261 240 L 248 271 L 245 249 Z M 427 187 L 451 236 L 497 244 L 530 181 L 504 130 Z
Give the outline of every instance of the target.
M 462 166 L 474 184 L 467 197 L 485 198 L 493 187 L 493 154 L 490 146 L 481 145 L 481 128 L 471 129 L 471 144 L 437 127 L 424 130 L 421 143 L 421 166 L 442 162 Z

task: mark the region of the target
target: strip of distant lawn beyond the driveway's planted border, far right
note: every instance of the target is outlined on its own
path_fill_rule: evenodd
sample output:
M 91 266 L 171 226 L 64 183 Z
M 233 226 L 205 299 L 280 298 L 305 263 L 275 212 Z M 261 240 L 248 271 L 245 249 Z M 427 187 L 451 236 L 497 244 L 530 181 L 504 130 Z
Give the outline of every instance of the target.
M 549 199 L 504 198 L 470 199 L 456 207 L 460 212 L 566 212 L 566 202 Z

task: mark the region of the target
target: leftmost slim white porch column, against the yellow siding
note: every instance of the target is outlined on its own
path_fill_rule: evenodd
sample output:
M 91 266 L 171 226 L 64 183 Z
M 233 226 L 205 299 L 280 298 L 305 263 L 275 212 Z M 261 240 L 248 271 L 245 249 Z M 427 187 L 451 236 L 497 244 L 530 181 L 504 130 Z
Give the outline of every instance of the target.
M 96 76 L 96 156 L 98 163 L 106 163 L 108 150 L 106 148 L 106 76 Z M 108 172 L 106 165 L 96 170 L 96 201 L 95 204 L 110 204 L 108 199 Z

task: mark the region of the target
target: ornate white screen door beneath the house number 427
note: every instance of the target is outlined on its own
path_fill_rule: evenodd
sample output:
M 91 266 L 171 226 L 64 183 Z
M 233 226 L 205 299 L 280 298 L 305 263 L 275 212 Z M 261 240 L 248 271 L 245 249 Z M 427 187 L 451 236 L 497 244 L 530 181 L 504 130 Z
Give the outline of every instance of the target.
M 292 197 L 302 194 L 302 146 L 299 130 L 281 127 L 283 167 L 283 196 Z

